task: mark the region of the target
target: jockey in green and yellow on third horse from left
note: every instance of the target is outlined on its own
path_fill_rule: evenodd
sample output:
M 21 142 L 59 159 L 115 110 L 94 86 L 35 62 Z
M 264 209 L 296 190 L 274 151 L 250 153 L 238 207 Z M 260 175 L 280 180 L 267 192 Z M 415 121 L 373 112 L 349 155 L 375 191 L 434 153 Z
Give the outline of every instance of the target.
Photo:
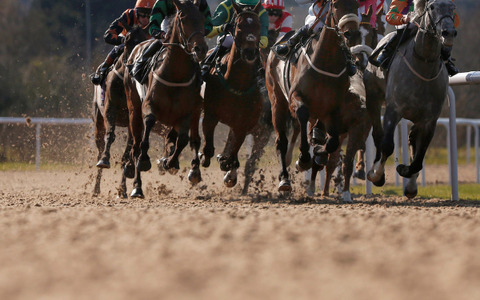
M 211 68 L 211 65 L 216 57 L 222 57 L 228 49 L 232 47 L 233 38 L 227 33 L 233 30 L 232 17 L 234 15 L 232 1 L 241 7 L 249 6 L 254 7 L 257 5 L 258 0 L 224 0 L 215 9 L 213 14 L 213 30 L 207 35 L 208 38 L 213 38 L 220 35 L 217 39 L 217 45 L 214 50 L 205 58 L 202 66 L 202 76 L 205 76 Z M 258 13 L 260 18 L 260 48 L 266 48 L 268 46 L 268 14 L 262 7 Z

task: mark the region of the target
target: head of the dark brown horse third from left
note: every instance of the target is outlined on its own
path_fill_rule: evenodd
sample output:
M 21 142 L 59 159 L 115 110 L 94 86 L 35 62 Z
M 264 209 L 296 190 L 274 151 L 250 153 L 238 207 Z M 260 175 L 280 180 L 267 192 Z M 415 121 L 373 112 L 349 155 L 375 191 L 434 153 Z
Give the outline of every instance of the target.
M 258 44 L 260 43 L 260 17 L 258 13 L 262 8 L 261 1 L 251 8 L 241 8 L 232 1 L 235 10 L 235 47 L 240 50 L 242 60 L 254 63 L 258 57 Z

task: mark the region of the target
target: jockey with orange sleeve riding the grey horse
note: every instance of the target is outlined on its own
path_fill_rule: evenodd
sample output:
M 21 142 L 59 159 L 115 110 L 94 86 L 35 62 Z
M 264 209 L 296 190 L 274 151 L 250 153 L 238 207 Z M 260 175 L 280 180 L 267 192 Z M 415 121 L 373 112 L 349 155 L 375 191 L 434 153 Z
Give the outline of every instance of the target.
M 412 34 L 413 30 L 416 29 L 416 26 L 410 24 L 410 15 L 409 13 L 414 10 L 413 0 L 393 0 L 390 4 L 390 9 L 387 13 L 387 22 L 391 25 L 397 27 L 396 34 L 385 44 L 382 52 L 377 57 L 377 60 L 373 60 L 373 64 L 381 66 L 384 69 L 387 69 L 390 65 L 390 60 L 393 57 L 395 49 L 403 41 L 408 39 Z M 455 13 L 455 28 L 460 23 L 458 15 Z M 452 47 L 442 46 L 441 57 L 445 61 L 445 67 L 447 68 L 448 74 L 453 76 L 458 73 L 458 69 L 455 67 L 453 61 L 450 58 L 452 52 Z M 371 60 L 372 61 L 372 60 Z

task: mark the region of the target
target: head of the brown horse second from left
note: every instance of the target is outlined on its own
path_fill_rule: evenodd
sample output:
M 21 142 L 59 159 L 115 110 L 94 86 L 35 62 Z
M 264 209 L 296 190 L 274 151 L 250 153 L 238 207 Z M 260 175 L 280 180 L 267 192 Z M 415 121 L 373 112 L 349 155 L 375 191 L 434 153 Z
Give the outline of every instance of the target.
M 180 43 L 185 52 L 200 62 L 207 54 L 204 16 L 199 10 L 199 0 L 173 0 L 177 14 L 172 28 L 172 43 Z

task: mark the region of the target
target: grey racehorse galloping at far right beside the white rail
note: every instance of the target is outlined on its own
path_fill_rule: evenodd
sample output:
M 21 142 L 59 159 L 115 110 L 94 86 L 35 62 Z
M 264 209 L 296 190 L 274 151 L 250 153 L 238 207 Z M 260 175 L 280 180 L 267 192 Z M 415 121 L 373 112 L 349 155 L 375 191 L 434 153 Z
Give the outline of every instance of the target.
M 411 147 L 409 166 L 399 164 L 397 172 L 408 178 L 404 195 L 413 198 L 417 195 L 418 172 L 435 132 L 437 119 L 447 95 L 448 73 L 440 58 L 442 45 L 451 47 L 457 35 L 454 27 L 452 0 L 415 0 L 414 22 L 419 21 L 414 38 L 398 47 L 392 60 L 388 76 L 382 82 L 378 70 L 372 67 L 369 73 L 373 80 L 380 81 L 374 90 L 377 94 L 367 94 L 367 105 L 374 105 L 376 112 L 373 137 L 377 149 L 375 162 L 367 177 L 375 185 L 385 183 L 384 167 L 387 158 L 394 150 L 394 130 L 401 118 L 412 121 L 408 142 Z M 387 39 L 389 36 L 385 37 Z M 383 42 L 383 40 L 382 40 Z M 381 42 L 381 43 L 382 43 Z M 380 47 L 380 45 L 379 45 Z M 365 74 L 367 75 L 367 74 Z M 372 78 L 365 78 L 367 91 Z M 370 82 L 368 81 L 370 80 Z M 383 132 L 380 125 L 381 84 L 385 85 L 386 110 L 383 117 Z M 377 96 L 377 99 L 369 97 Z M 370 108 L 369 108 L 370 109 Z

